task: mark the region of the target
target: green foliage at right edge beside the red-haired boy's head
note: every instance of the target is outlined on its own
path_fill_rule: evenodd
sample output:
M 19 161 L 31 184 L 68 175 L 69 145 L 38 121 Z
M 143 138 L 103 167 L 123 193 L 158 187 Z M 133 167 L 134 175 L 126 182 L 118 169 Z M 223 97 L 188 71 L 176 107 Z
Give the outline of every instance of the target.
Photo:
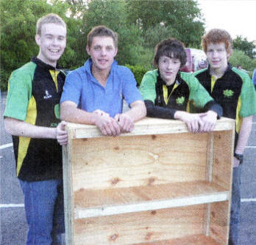
M 252 71 L 256 67 L 256 59 L 251 59 L 241 50 L 233 51 L 232 56 L 230 56 L 230 63 L 234 67 L 236 67 L 237 65 L 241 65 L 243 70 L 248 71 Z

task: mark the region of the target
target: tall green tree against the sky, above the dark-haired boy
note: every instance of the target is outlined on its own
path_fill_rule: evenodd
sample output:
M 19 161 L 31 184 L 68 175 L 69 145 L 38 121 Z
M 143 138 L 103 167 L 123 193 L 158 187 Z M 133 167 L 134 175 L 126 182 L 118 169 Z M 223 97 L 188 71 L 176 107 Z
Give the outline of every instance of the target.
M 143 34 L 147 34 L 152 28 L 159 29 L 159 26 L 163 26 L 170 31 L 172 37 L 182 40 L 186 46 L 199 48 L 204 24 L 196 1 L 126 0 L 126 2 L 127 22 L 137 24 L 143 30 Z

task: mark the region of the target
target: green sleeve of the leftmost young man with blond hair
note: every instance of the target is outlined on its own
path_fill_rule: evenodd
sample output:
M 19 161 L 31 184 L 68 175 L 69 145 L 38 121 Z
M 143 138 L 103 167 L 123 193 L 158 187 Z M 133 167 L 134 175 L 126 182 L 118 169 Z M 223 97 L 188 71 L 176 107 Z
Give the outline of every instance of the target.
M 32 79 L 33 73 L 23 67 L 11 74 L 4 117 L 26 120 L 29 99 L 32 94 Z

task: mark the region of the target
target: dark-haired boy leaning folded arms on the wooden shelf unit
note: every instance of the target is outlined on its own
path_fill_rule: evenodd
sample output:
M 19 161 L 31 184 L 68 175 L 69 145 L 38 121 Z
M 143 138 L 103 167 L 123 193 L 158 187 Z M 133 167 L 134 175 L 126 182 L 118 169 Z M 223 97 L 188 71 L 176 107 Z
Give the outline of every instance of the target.
M 192 74 L 180 72 L 185 62 L 185 48 L 179 40 L 168 38 L 156 45 L 153 63 L 157 70 L 148 71 L 140 86 L 147 116 L 182 120 L 193 133 L 212 131 L 217 116 L 221 117 L 221 106 Z M 191 101 L 207 112 L 189 113 Z

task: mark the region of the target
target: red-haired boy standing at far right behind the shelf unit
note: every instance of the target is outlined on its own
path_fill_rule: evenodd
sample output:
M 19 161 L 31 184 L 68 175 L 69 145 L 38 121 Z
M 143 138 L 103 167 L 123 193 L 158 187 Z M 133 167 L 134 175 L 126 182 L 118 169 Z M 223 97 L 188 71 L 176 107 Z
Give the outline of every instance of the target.
M 249 76 L 228 63 L 232 54 L 232 39 L 228 32 L 210 30 L 202 37 L 202 47 L 210 65 L 194 75 L 222 106 L 223 116 L 235 120 L 230 244 L 238 244 L 241 163 L 252 128 L 252 117 L 256 113 L 256 93 Z

